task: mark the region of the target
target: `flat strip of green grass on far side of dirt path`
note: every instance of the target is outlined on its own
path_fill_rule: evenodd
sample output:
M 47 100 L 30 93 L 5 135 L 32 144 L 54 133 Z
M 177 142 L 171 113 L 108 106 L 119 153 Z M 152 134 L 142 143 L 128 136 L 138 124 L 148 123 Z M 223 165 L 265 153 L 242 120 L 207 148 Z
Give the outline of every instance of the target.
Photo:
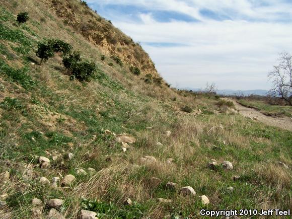
M 284 115 L 292 117 L 292 106 L 280 106 L 280 105 L 270 105 L 265 101 L 259 100 L 238 100 L 239 103 L 243 104 L 244 106 L 254 107 L 261 111 L 264 114 L 272 114 L 272 115 Z

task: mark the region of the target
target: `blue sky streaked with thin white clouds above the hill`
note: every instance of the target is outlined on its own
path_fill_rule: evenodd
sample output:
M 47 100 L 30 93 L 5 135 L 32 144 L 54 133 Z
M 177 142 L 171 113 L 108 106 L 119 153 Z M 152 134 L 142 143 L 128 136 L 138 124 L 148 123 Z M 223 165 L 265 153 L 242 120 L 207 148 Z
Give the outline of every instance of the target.
M 279 53 L 292 53 L 292 0 L 86 2 L 140 42 L 176 88 L 268 90 Z

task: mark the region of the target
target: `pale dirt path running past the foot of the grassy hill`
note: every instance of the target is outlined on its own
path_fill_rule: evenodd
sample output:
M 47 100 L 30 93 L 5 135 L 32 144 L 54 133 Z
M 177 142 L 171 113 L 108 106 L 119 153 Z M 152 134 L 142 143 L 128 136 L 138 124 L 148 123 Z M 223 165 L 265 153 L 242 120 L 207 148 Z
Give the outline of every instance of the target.
M 227 100 L 231 100 L 235 104 L 236 109 L 239 110 L 239 113 L 245 117 L 257 118 L 259 121 L 267 125 L 276 126 L 279 128 L 292 131 L 292 120 L 289 117 L 266 116 L 256 109 L 242 106 L 235 100 L 232 100 L 232 99 L 227 99 Z

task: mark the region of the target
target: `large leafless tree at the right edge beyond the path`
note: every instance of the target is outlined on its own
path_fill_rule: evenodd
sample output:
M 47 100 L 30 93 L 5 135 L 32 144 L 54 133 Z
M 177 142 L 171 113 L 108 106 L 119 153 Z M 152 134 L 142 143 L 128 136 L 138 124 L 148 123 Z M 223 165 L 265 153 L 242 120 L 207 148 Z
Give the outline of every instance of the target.
M 292 106 L 292 56 L 287 52 L 280 53 L 279 64 L 269 72 L 268 78 L 273 83 L 269 95 L 280 97 Z

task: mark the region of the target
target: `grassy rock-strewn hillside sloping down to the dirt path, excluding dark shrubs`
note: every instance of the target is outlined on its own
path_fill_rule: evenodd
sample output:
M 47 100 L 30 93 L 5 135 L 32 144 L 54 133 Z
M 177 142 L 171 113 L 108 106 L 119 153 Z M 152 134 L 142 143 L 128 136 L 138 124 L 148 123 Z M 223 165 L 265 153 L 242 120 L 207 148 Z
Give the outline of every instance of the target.
M 70 80 L 60 52 L 41 62 L 46 39 L 79 50 L 94 77 Z M 84 2 L 0 3 L 0 91 L 0 218 L 292 208 L 290 131 L 169 88 L 141 46 Z

